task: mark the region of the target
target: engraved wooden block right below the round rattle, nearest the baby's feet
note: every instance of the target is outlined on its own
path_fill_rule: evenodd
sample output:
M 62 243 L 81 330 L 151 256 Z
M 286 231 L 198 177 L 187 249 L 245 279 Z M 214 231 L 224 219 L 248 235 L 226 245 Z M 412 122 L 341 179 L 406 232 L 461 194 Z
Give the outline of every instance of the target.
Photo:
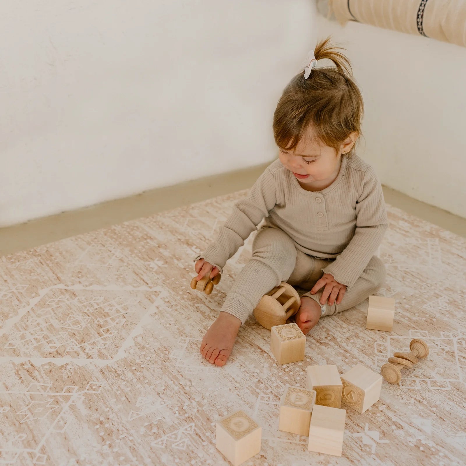
M 306 336 L 296 322 L 272 327 L 270 349 L 277 363 L 289 364 L 304 359 Z

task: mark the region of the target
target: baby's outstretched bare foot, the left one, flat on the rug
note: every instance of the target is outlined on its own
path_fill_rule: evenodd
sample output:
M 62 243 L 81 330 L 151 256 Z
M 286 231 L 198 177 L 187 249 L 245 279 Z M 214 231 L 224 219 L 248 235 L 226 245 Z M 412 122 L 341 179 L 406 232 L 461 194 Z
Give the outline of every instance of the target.
M 238 317 L 221 311 L 202 339 L 200 347 L 202 357 L 211 364 L 223 366 L 232 352 L 240 327 L 241 321 Z

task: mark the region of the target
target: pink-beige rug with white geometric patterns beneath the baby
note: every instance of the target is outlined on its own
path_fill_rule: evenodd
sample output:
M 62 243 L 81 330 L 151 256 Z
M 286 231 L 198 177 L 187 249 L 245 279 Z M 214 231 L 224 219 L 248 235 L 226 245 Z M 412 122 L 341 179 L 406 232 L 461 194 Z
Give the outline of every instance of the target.
M 227 263 L 212 295 L 192 258 L 245 191 L 0 258 L 0 465 L 225 465 L 215 423 L 242 409 L 262 426 L 246 465 L 464 465 L 466 240 L 389 207 L 381 248 L 396 299 L 391 333 L 365 329 L 367 302 L 324 317 L 302 363 L 277 366 L 251 317 L 223 368 L 199 343 L 251 254 Z M 348 408 L 343 456 L 278 430 L 286 384 L 308 364 L 372 370 L 412 338 L 427 360 Z

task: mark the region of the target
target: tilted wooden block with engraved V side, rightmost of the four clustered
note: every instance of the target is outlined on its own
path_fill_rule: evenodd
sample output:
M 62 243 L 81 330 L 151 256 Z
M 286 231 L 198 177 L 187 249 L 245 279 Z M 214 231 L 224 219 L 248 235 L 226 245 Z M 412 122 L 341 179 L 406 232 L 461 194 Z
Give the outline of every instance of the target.
M 382 376 L 362 364 L 356 364 L 341 378 L 342 402 L 361 414 L 380 398 Z

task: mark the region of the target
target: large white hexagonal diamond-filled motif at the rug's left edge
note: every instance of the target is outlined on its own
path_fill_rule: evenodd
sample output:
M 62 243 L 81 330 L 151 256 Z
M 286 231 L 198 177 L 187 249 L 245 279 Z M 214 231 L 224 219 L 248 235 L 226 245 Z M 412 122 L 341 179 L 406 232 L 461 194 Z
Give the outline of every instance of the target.
M 7 354 L 0 356 L 0 363 L 73 360 L 102 366 L 117 361 L 150 316 L 165 308 L 168 295 L 162 287 L 56 285 L 42 289 L 0 329 L 0 348 Z

